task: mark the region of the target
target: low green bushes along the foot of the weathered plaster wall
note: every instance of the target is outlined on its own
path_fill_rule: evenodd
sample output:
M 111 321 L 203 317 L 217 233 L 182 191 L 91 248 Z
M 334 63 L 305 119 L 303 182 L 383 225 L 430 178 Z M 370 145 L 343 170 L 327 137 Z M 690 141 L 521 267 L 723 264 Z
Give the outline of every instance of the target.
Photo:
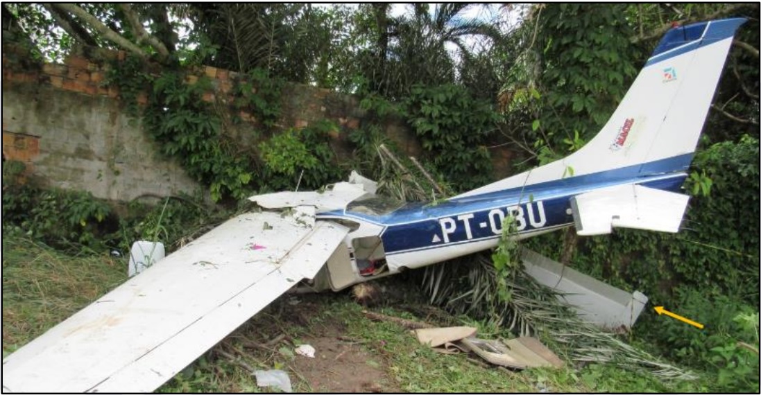
M 118 214 L 117 214 L 118 213 Z M 224 216 L 224 213 L 222 213 Z M 86 191 L 8 185 L 2 194 L 3 231 L 23 233 L 53 248 L 79 253 L 129 251 L 136 240 L 160 240 L 171 248 L 214 221 L 193 198 L 167 198 L 151 206 L 132 201 L 121 209 Z

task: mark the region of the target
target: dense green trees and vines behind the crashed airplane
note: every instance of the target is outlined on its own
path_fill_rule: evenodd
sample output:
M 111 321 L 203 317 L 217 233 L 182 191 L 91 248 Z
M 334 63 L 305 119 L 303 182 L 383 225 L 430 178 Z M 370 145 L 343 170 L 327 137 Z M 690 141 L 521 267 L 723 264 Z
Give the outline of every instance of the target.
M 463 191 L 493 181 L 489 147 L 510 144 L 517 172 L 583 146 L 673 22 L 747 17 L 685 185 L 693 198 L 683 230 L 671 235 L 616 229 L 612 235 L 578 238 L 569 229 L 529 245 L 705 323 L 698 331 L 645 314 L 636 334 L 669 358 L 715 374 L 718 390 L 743 390 L 753 383 L 757 390 L 759 5 L 2 7 L 4 40 L 27 43 L 40 60 L 61 59 L 83 45 L 128 51 L 132 60 L 114 68 L 113 83 L 126 99 L 145 84 L 154 87 L 147 109 L 136 115 L 144 117 L 146 132 L 164 153 L 180 157 L 217 201 L 291 185 L 302 170 L 307 170 L 305 188 L 335 182 L 350 167 L 380 177 L 375 147 L 388 141 L 369 120 L 350 136 L 355 158 L 339 163 L 326 143 L 335 125 L 274 131 L 274 122 L 265 122 L 256 133 L 272 137 L 260 150 L 233 153 L 224 122 L 197 100 L 198 86 L 187 87 L 173 74 L 177 68 L 214 65 L 248 74 L 247 84 L 258 90 L 239 87 L 237 103 L 265 120 L 277 119 L 285 81 L 357 94 L 377 119 L 390 114 L 405 119 L 425 151 L 421 159 L 428 172 L 451 191 Z M 165 72 L 151 77 L 146 59 L 164 65 Z M 94 248 L 95 235 L 110 232 L 94 227 L 112 215 L 107 206 L 81 194 L 29 191 L 7 181 L 6 166 L 3 170 L 4 192 L 16 191 L 3 194 L 5 221 L 49 242 Z M 183 210 L 170 206 L 167 213 L 179 216 Z M 63 216 L 70 229 L 53 226 L 53 214 Z M 156 232 L 145 221 L 122 223 L 129 221 L 143 232 Z M 740 343 L 754 344 L 756 354 Z

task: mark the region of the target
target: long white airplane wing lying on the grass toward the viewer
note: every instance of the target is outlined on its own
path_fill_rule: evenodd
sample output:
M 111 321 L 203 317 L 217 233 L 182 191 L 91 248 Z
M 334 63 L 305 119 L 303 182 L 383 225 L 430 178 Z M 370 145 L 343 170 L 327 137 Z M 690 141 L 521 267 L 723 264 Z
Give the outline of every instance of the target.
M 313 278 L 348 232 L 314 207 L 236 216 L 8 356 L 3 390 L 152 391 Z

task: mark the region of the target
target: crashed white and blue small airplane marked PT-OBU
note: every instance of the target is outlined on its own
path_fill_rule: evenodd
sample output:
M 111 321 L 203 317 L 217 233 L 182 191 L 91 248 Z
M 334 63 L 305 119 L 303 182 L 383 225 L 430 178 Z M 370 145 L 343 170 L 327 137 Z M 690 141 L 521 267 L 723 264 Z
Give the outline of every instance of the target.
M 680 190 L 742 18 L 669 30 L 578 152 L 438 204 L 401 204 L 352 174 L 332 190 L 254 196 L 244 213 L 132 277 L 2 362 L 11 392 L 151 391 L 302 280 L 317 289 L 565 226 L 677 232 Z

